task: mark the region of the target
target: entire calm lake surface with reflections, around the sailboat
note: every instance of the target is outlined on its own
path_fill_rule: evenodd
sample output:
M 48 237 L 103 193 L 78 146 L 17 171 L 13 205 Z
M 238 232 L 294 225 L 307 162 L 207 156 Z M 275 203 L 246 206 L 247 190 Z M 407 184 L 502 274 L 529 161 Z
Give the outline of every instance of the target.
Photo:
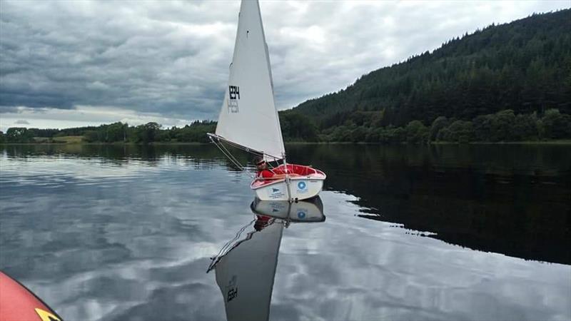
M 571 319 L 569 146 L 286 149 L 320 200 L 213 146 L 0 146 L 0 270 L 65 320 Z

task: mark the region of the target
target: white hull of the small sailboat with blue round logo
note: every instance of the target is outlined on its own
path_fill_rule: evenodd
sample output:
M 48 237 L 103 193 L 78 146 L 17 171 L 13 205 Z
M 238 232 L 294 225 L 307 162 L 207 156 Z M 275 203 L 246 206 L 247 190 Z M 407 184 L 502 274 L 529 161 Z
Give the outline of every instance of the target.
M 307 200 L 314 198 L 323 188 L 325 178 L 290 178 L 289 188 L 285 179 L 253 188 L 260 200 Z

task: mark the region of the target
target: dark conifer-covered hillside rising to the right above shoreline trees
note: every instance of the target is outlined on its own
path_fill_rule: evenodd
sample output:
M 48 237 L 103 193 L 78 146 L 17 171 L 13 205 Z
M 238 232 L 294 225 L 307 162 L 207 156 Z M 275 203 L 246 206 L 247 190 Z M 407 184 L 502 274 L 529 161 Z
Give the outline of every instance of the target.
M 542 116 L 548 108 L 571 113 L 571 9 L 452 39 L 287 113 L 309 116 L 323 131 L 355 117 L 360 126 L 363 116 L 376 126 L 430 126 L 438 116 L 470 121 L 505 109 Z

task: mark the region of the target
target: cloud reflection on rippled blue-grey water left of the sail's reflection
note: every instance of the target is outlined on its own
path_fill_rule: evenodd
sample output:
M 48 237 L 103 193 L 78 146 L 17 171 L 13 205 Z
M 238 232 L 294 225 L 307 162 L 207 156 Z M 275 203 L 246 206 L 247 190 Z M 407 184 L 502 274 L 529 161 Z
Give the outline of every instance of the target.
M 98 168 L 84 160 L 75 162 Z M 44 165 L 31 167 L 39 173 Z M 84 173 L 74 172 L 65 162 L 54 168 L 73 178 Z M 69 179 L 69 187 L 59 193 L 14 184 L 14 195 L 0 195 L 0 211 L 6 215 L 0 236 L 2 269 L 68 320 L 124 313 L 143 317 L 153 310 L 158 313 L 173 295 L 184 301 L 185 289 L 193 288 L 203 289 L 187 293 L 192 302 L 200 303 L 185 302 L 181 313 L 201 319 L 223 317 L 216 314 L 216 305 L 222 304 L 216 282 L 205 272 L 208 258 L 236 232 L 243 214 L 251 218 L 251 195 L 243 188 L 248 178 L 220 185 L 226 181 L 226 170 L 181 171 L 172 163 L 160 173 L 140 169 L 141 175 L 133 176 L 131 183 L 96 174 L 104 177 L 106 188 L 81 185 L 80 179 Z M 188 180 L 181 180 L 186 173 Z M 236 208 L 236 200 L 245 201 L 233 215 L 228 209 Z M 23 213 L 26 220 L 19 216 Z

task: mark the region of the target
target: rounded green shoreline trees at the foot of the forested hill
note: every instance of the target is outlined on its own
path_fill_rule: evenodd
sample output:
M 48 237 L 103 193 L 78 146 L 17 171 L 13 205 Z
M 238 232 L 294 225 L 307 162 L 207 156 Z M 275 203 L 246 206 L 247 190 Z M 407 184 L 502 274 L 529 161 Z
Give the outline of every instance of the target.
M 410 121 L 405 126 L 379 126 L 380 116 L 368 112 L 353 113 L 343 125 L 318 133 L 320 141 L 367 143 L 430 142 L 517 142 L 571 139 L 571 116 L 557 109 L 537 113 L 516 114 L 507 109 L 480 115 L 465 121 L 437 117 L 432 123 Z

